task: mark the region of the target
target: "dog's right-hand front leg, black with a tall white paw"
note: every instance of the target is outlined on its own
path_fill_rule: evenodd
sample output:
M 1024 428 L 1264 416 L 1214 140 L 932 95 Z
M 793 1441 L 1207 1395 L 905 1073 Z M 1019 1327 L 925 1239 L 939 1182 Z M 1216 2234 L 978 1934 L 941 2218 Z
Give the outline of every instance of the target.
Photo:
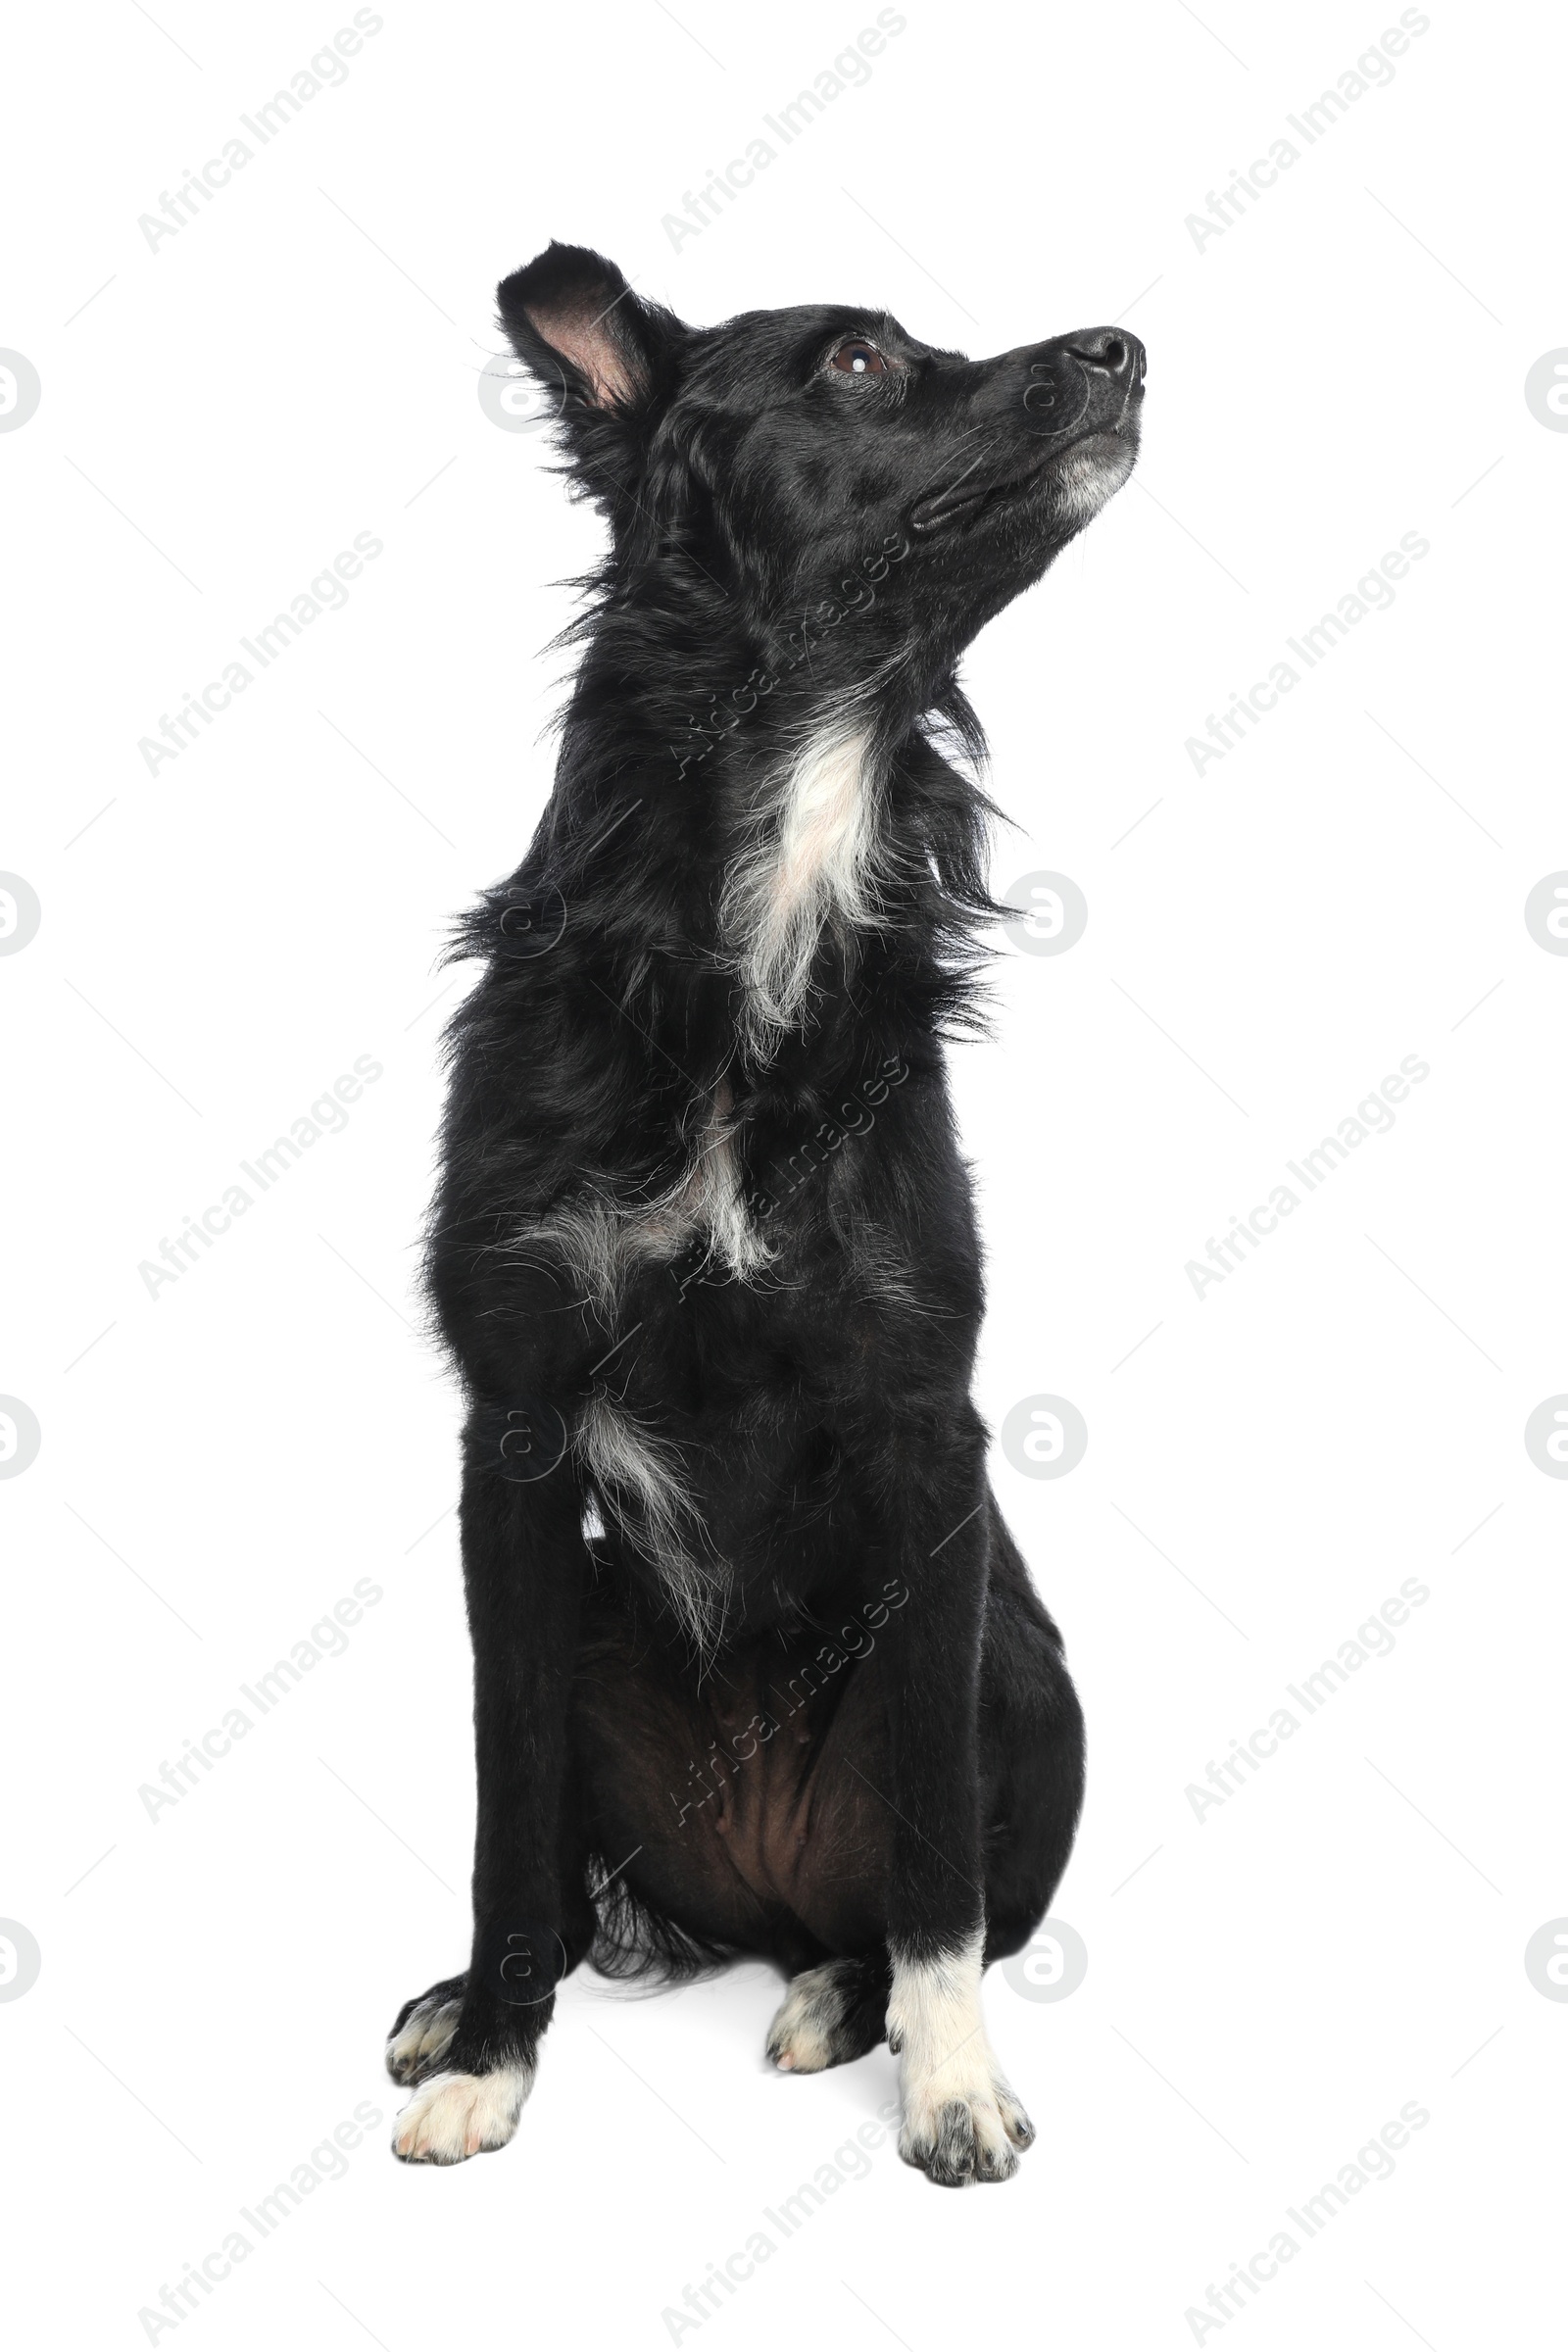
M 945 1456 L 945 1461 L 943 1461 Z M 957 1456 L 957 1458 L 954 1458 Z M 931 1444 L 896 1482 L 903 1578 L 893 1625 L 893 1872 L 889 2049 L 898 2051 L 898 2152 L 945 2187 L 1006 2180 L 1034 2138 L 980 2018 L 980 1639 L 987 1515 L 978 1442 Z

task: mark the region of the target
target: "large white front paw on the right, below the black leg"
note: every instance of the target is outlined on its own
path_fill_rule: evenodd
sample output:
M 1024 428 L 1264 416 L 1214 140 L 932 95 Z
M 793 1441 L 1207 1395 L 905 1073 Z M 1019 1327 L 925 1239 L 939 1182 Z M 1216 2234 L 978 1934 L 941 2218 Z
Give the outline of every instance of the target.
M 1034 2126 L 997 2065 L 980 2018 L 980 1947 L 896 1962 L 889 2046 L 898 2051 L 898 2154 L 940 2187 L 1009 2180 Z

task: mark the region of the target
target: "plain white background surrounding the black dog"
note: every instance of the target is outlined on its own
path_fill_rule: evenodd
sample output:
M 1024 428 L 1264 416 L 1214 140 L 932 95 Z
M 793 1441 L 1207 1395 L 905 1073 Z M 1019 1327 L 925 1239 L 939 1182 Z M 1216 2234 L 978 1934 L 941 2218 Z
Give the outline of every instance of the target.
M 1121 315 L 1150 346 L 1135 485 L 966 668 L 1018 828 L 997 887 L 1051 868 L 1091 910 L 1067 955 L 1001 946 L 994 1042 L 954 1063 L 980 1404 L 1088 1423 L 1070 1477 L 997 1454 L 1091 1724 L 1058 1896 L 1088 1976 L 987 1980 L 1041 2126 L 1011 2187 L 943 2197 L 884 2145 L 677 2340 L 1537 2340 L 1568 2009 L 1523 1950 L 1568 1912 L 1568 1486 L 1523 1423 L 1568 1388 L 1568 960 L 1523 898 L 1568 866 L 1568 437 L 1523 379 L 1568 343 L 1561 21 L 1434 0 L 1307 148 L 1284 118 L 1392 5 L 910 0 L 675 249 L 663 216 L 870 5 L 388 0 L 343 87 L 150 249 L 139 214 L 350 16 L 155 14 L 33 12 L 0 148 L 0 343 L 42 379 L 0 435 L 0 868 L 42 903 L 0 960 L 0 1390 L 42 1428 L 0 1484 L 0 1915 L 42 1950 L 0 2002 L 16 2340 L 146 2343 L 162 2284 L 369 2100 L 346 2178 L 158 2343 L 663 2345 L 893 2093 L 886 2051 L 769 2077 L 759 1966 L 658 1999 L 578 1976 L 505 2154 L 386 2152 L 383 2032 L 468 1940 L 456 1402 L 411 1287 L 465 985 L 435 957 L 548 795 L 555 583 L 597 546 L 477 400 L 494 282 L 548 235 L 703 322 L 865 299 L 976 355 Z M 1199 249 L 1187 214 L 1281 134 L 1300 160 Z M 360 532 L 346 609 L 148 774 L 139 739 Z M 1406 532 L 1392 609 L 1194 774 L 1208 713 Z M 1396 1127 L 1199 1301 L 1185 1263 L 1410 1054 Z M 348 1127 L 148 1296 L 355 1056 L 383 1077 Z M 343 1656 L 150 1820 L 139 1788 L 367 1576 Z M 1406 1578 L 1394 1651 L 1199 1820 L 1187 1785 Z M 1199 2333 L 1410 2100 L 1394 2176 Z

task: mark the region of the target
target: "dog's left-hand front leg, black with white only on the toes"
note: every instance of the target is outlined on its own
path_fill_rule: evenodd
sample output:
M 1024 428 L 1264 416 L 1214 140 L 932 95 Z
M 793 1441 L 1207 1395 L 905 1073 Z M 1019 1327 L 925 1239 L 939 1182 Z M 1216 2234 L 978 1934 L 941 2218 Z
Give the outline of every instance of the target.
M 552 1421 L 536 1416 L 531 1461 L 527 1451 L 501 1451 L 517 1416 L 508 1423 L 477 1411 L 465 1432 L 461 1522 L 480 1799 L 475 1933 L 468 1976 L 435 1985 L 397 2020 L 393 2070 L 418 2089 L 397 2117 L 393 2150 L 416 2164 L 456 2164 L 510 2140 L 567 1969 L 562 1933 L 574 1931 L 559 1813 L 583 1536 L 567 1461 L 515 1482 L 517 1465 L 538 1468 L 552 1451 L 541 1418 Z M 407 2065 L 397 2063 L 400 2046 Z

